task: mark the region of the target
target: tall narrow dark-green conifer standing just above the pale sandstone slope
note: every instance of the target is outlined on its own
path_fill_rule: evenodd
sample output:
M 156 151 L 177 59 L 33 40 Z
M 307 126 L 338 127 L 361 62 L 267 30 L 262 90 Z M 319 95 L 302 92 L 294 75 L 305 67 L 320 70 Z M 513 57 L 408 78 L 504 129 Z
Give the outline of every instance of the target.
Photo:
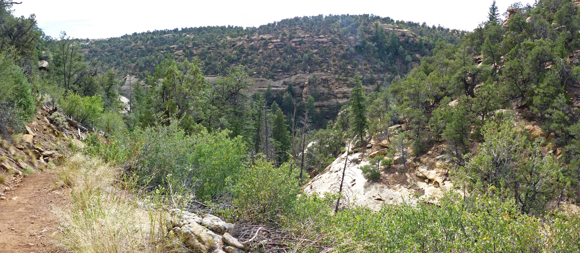
M 353 131 L 358 135 L 361 142 L 367 133 L 367 92 L 362 87 L 361 75 L 357 73 L 353 80 L 356 85 L 350 90 L 351 122 Z

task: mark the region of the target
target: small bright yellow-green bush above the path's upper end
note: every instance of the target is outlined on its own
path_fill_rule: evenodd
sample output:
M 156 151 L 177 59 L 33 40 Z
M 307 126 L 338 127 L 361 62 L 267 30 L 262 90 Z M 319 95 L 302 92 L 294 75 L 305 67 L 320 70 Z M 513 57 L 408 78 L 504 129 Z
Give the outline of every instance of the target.
M 75 120 L 91 124 L 101 117 L 104 103 L 99 95 L 80 96 L 71 93 L 63 98 L 61 105 L 64 113 L 73 116 Z

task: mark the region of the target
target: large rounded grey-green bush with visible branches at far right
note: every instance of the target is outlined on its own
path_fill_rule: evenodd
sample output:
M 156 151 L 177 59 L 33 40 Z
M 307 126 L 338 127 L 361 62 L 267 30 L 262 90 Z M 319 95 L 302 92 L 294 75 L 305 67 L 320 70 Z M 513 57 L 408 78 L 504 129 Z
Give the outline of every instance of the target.
M 513 126 L 511 120 L 486 124 L 477 154 L 455 174 L 472 194 L 488 194 L 495 187 L 522 213 L 537 212 L 548 200 L 565 198 L 564 189 L 577 185 L 578 178 L 564 177 L 554 155 L 542 152 L 543 143 Z

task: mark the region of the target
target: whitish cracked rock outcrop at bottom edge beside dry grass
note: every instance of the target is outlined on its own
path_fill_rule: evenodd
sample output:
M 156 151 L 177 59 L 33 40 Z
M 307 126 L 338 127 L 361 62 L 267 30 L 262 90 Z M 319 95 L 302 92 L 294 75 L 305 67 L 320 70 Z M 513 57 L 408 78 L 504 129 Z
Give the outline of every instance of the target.
M 233 224 L 211 215 L 197 214 L 180 209 L 169 211 L 168 229 L 182 237 L 182 247 L 193 252 L 245 253 L 251 249 L 228 233 Z M 253 251 L 258 253 L 259 251 Z

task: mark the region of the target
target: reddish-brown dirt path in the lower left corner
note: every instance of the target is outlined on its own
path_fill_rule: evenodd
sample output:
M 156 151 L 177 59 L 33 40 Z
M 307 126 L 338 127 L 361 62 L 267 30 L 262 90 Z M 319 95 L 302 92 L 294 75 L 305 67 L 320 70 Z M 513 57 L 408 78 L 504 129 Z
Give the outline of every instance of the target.
M 53 252 L 47 236 L 58 227 L 52 206 L 68 203 L 60 189 L 52 191 L 56 170 L 19 177 L 13 180 L 8 192 L 2 185 L 0 192 L 0 253 Z

